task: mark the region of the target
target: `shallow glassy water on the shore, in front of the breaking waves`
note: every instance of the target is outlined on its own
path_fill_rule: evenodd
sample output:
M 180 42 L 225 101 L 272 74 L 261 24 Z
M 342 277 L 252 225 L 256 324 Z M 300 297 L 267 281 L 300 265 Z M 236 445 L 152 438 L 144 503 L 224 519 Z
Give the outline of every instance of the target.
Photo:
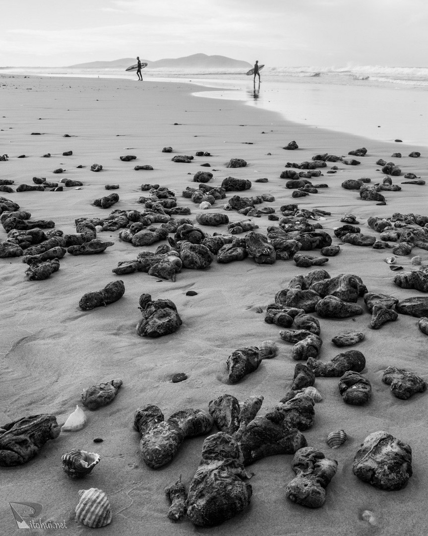
M 143 72 L 144 73 L 144 72 Z M 189 83 L 205 88 L 204 98 L 239 100 L 246 105 L 279 113 L 284 120 L 310 128 L 324 128 L 334 132 L 358 135 L 373 142 L 403 143 L 428 148 L 428 116 L 424 109 L 426 91 L 418 88 L 366 85 L 356 80 L 352 84 L 325 84 L 317 77 L 285 78 L 264 76 L 261 86 L 253 86 L 251 77 L 225 76 L 212 79 L 207 76 L 189 75 L 190 78 L 152 77 L 146 81 L 155 83 Z M 0 76 L 12 76 L 2 75 Z M 13 75 L 37 77 L 41 75 Z M 42 75 L 52 78 L 100 79 L 100 75 L 69 74 Z M 101 75 L 101 79 L 129 80 L 130 75 Z M 325 78 L 324 78 L 325 79 Z M 322 79 L 322 80 L 324 80 Z M 397 126 L 399 125 L 399 126 Z

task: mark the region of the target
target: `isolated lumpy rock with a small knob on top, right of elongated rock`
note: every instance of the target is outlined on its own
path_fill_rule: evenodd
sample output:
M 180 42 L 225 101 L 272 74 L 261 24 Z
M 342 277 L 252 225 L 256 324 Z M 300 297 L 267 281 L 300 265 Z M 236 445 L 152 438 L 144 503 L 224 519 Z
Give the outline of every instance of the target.
M 162 337 L 174 333 L 182 325 L 177 307 L 171 300 L 154 300 L 150 294 L 141 294 L 142 319 L 137 324 L 140 337 Z

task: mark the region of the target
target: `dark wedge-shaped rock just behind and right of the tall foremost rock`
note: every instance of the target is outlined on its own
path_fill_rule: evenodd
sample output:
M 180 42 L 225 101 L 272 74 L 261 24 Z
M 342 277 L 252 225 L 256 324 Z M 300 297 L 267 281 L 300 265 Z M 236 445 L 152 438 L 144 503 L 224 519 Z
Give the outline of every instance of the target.
M 249 465 L 265 456 L 294 454 L 306 446 L 305 436 L 293 428 L 284 418 L 284 413 L 274 410 L 250 421 L 239 440 L 244 456 L 244 465 Z

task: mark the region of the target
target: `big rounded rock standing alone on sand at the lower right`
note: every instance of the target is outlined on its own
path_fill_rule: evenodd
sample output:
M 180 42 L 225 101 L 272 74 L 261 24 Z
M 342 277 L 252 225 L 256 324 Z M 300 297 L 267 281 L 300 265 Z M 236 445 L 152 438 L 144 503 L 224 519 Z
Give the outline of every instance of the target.
M 380 489 L 404 487 L 412 475 L 411 447 L 386 431 L 368 435 L 358 449 L 352 473 Z

